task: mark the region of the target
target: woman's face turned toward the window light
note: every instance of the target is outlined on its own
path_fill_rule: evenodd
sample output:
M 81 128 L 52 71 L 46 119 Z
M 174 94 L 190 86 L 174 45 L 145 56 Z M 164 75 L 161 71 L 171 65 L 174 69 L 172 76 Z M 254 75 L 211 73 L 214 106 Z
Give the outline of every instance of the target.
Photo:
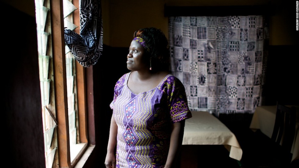
M 132 40 L 127 55 L 127 68 L 131 71 L 149 69 L 146 64 L 146 49 L 137 41 Z

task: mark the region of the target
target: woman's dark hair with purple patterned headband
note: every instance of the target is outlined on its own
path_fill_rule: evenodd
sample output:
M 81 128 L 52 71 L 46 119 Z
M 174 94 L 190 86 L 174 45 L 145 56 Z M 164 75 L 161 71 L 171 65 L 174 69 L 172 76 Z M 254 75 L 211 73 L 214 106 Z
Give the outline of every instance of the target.
M 160 29 L 154 27 L 139 29 L 134 32 L 133 37 L 133 40 L 146 49 L 147 58 L 144 60 L 149 67 L 152 67 L 151 71 L 169 71 L 168 39 Z

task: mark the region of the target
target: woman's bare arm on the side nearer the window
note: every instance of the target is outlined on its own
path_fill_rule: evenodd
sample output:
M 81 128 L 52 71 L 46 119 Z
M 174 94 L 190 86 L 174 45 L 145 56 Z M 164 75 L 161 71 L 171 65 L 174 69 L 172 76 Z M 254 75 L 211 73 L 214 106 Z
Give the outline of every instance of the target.
M 106 168 L 115 168 L 115 145 L 117 142 L 117 124 L 115 119 L 112 115 L 111 122 L 110 122 L 110 131 L 109 131 L 109 140 L 107 146 L 107 154 L 105 159 Z

